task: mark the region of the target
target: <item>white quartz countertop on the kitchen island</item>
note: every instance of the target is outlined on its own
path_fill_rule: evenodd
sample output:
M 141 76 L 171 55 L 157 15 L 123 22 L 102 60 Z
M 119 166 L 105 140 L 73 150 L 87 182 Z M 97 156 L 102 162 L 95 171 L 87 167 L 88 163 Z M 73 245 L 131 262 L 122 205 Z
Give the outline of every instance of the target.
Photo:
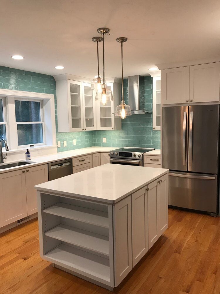
M 35 186 L 42 192 L 113 204 L 168 173 L 165 168 L 104 164 Z

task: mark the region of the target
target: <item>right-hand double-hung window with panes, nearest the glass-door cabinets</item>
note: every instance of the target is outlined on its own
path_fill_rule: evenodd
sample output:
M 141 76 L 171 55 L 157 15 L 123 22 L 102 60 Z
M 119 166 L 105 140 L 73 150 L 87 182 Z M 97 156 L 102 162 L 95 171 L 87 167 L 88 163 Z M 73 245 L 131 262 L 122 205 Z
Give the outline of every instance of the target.
M 18 147 L 45 144 L 42 101 L 15 99 L 14 105 Z

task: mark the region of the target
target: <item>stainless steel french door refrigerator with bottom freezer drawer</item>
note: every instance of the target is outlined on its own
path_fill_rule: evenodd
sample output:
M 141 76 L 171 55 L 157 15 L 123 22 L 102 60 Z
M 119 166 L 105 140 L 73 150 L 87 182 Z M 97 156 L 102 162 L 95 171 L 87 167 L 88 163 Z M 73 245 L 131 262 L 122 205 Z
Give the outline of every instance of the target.
M 218 213 L 219 105 L 164 106 L 162 167 L 169 205 Z

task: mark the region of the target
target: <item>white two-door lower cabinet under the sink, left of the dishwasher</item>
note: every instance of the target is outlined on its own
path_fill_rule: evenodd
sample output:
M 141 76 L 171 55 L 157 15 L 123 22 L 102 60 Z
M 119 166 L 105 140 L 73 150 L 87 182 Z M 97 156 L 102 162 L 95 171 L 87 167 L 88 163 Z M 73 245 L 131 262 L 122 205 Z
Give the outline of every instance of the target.
M 0 174 L 0 227 L 36 213 L 33 187 L 47 181 L 47 164 Z

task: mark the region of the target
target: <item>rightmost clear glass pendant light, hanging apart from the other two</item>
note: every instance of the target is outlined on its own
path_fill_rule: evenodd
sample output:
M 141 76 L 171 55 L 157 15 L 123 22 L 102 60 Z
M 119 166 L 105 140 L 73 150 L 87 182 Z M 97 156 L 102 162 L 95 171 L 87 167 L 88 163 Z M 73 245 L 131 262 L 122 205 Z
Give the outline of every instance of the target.
M 121 72 L 122 72 L 122 101 L 119 106 L 116 107 L 115 116 L 121 116 L 126 118 L 127 115 L 131 115 L 131 107 L 124 103 L 124 88 L 123 88 L 123 43 L 127 42 L 127 38 L 120 37 L 116 41 L 121 43 Z

